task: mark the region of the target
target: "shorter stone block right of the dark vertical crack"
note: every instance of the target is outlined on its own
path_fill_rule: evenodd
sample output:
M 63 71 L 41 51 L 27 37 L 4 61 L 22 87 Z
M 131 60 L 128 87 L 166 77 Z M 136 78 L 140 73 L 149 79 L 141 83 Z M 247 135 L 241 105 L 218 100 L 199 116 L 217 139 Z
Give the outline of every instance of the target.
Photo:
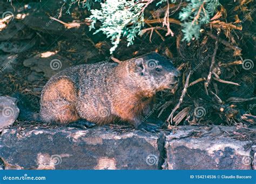
M 167 165 L 167 169 L 252 169 L 252 148 L 246 149 L 251 141 L 227 137 L 220 131 L 220 126 L 211 130 L 186 127 L 178 130 L 177 134 L 187 135 L 188 129 L 200 132 L 200 136 L 166 136 L 165 168 Z

